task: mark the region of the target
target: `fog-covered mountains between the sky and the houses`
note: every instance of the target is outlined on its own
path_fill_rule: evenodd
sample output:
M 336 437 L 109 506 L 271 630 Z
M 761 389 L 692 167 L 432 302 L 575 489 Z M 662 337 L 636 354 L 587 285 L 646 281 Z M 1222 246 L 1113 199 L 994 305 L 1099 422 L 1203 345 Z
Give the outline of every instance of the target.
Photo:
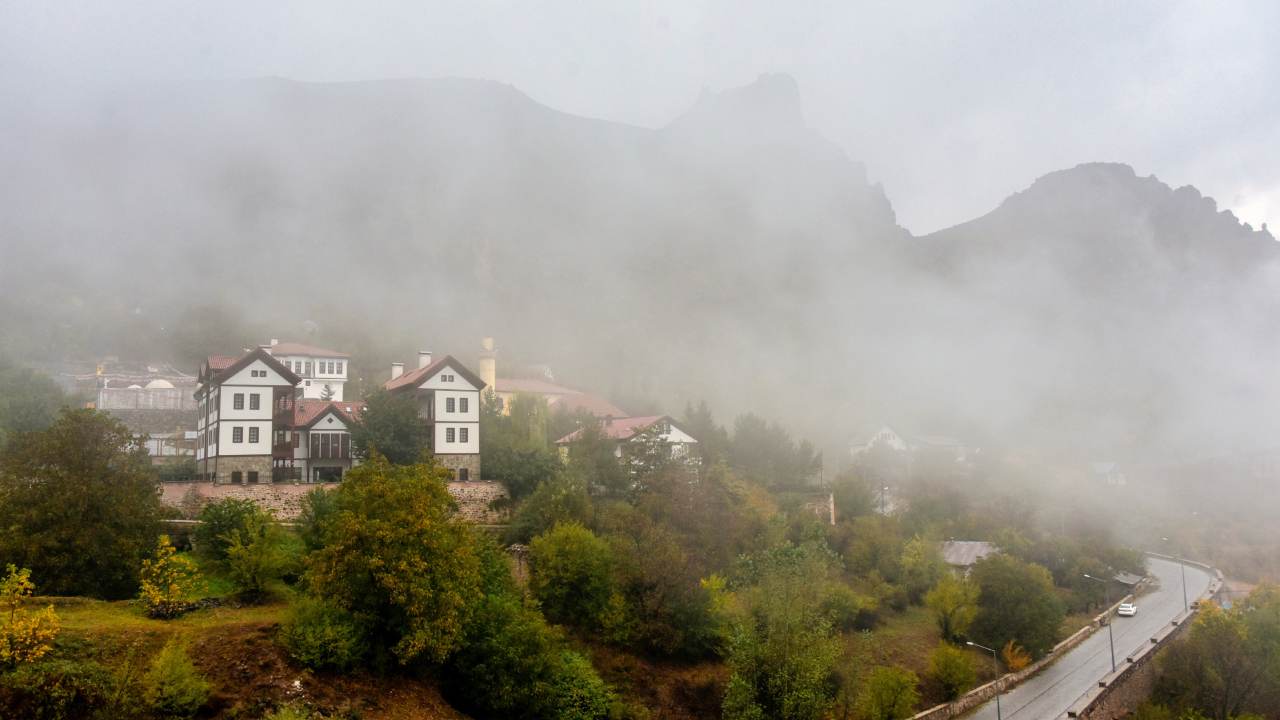
M 191 363 L 266 337 L 385 372 L 483 334 L 614 397 L 838 447 L 1268 443 L 1276 245 L 1124 165 L 913 237 L 785 76 L 649 129 L 467 79 L 54 91 L 0 115 L 0 342 Z

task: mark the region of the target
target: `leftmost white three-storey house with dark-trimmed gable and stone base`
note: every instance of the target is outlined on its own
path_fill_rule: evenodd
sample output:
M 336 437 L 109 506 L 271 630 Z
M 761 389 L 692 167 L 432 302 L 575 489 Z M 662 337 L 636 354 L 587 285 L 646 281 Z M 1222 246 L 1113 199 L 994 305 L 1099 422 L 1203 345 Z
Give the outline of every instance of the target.
M 200 477 L 223 483 L 269 482 L 292 461 L 279 445 L 293 424 L 297 374 L 265 348 L 239 357 L 215 355 L 200 368 L 196 388 L 196 464 Z

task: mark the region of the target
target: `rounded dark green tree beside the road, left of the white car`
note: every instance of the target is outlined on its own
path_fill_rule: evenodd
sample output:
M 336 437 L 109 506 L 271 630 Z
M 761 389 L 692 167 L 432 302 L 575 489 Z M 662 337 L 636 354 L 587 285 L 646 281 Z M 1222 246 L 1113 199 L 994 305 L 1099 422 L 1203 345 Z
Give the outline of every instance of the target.
M 1007 555 L 993 555 L 973 566 L 978 615 L 972 632 L 988 647 L 1009 641 L 1042 657 L 1057 642 L 1066 611 L 1048 570 Z

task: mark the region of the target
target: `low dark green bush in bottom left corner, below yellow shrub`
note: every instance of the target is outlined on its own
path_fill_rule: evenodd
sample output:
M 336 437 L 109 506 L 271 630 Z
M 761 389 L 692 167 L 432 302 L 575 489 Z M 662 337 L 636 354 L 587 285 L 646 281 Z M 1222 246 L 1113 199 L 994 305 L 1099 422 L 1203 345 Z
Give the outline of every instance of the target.
M 0 674 L 0 717 L 24 720 L 70 720 L 132 717 L 136 708 L 106 714 L 116 697 L 111 673 L 96 662 L 45 660 Z

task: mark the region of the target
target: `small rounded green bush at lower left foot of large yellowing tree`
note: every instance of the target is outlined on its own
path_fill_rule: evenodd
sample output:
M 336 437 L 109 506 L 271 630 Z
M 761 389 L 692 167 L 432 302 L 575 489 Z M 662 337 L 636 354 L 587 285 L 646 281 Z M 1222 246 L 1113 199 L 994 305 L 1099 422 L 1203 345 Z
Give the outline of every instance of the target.
M 367 652 L 364 630 L 349 612 L 307 596 L 289 607 L 279 639 L 294 660 L 315 670 L 349 670 Z

